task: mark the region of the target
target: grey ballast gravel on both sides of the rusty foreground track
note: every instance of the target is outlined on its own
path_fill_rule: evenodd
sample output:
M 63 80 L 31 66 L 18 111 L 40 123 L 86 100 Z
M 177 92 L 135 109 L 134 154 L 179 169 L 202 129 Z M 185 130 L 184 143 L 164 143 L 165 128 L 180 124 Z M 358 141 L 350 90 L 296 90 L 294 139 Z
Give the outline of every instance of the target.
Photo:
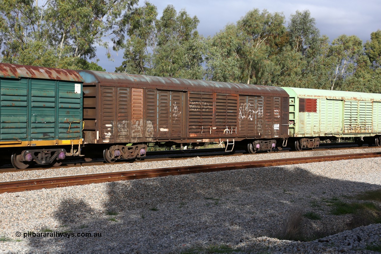
M 306 153 L 333 154 L 287 157 Z M 243 157 L 275 155 L 285 157 Z M 34 170 L 19 172 L 18 180 L 239 157 Z M 333 215 L 329 205 L 357 202 L 350 197 L 381 188 L 380 165 L 381 158 L 356 159 L 3 193 L 0 253 L 212 253 L 213 246 L 228 246 L 231 253 L 378 253 L 372 248 L 381 246 L 381 224 L 347 230 L 352 215 Z M 18 174 L 1 174 L 2 181 L 11 176 Z M 279 240 L 297 212 L 318 214 L 321 220 L 303 217 L 301 225 L 307 238 L 322 237 Z

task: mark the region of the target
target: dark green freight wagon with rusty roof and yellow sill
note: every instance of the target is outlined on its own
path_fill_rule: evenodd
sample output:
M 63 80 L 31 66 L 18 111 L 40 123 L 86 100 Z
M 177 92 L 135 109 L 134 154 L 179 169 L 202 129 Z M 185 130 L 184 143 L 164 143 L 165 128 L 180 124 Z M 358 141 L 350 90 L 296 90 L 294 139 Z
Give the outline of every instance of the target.
M 0 150 L 14 167 L 79 154 L 82 83 L 75 71 L 0 63 Z

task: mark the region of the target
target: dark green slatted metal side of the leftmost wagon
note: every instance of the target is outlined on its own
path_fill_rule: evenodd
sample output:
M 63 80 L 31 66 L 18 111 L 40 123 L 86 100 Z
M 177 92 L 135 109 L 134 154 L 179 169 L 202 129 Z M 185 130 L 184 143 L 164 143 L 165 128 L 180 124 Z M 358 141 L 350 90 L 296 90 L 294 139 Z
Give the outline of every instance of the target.
M 0 140 L 82 143 L 81 86 L 57 80 L 2 79 Z

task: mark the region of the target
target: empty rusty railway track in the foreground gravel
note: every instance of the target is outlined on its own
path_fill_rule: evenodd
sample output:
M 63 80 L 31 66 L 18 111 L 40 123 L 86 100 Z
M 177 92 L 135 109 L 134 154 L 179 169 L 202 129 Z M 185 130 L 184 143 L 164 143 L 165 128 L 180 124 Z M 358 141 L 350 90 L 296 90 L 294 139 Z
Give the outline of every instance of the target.
M 287 158 L 278 160 L 235 162 L 228 164 L 209 164 L 187 167 L 171 167 L 165 169 L 133 170 L 123 172 L 110 172 L 90 175 L 74 175 L 69 177 L 42 178 L 33 180 L 22 180 L 0 183 L 0 193 L 18 192 L 26 190 L 40 190 L 43 188 L 58 188 L 75 185 L 86 185 L 90 183 L 116 182 L 120 180 L 133 180 L 141 178 L 152 178 L 168 175 L 183 175 L 202 172 L 215 172 L 222 170 L 247 169 L 254 167 L 282 166 L 292 164 L 303 164 L 322 161 L 338 161 L 344 159 L 363 159 L 381 156 L 377 153 L 360 154 L 338 154 L 331 156 L 314 156 L 301 158 Z

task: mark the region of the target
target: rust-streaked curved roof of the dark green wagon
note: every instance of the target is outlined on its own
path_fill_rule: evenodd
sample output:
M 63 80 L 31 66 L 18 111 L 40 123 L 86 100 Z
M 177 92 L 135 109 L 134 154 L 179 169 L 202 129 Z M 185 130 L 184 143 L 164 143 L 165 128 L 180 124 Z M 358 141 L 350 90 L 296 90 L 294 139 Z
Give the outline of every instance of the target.
M 73 70 L 7 63 L 0 63 L 0 77 L 16 79 L 19 77 L 26 77 L 83 82 L 82 77 L 78 72 Z

